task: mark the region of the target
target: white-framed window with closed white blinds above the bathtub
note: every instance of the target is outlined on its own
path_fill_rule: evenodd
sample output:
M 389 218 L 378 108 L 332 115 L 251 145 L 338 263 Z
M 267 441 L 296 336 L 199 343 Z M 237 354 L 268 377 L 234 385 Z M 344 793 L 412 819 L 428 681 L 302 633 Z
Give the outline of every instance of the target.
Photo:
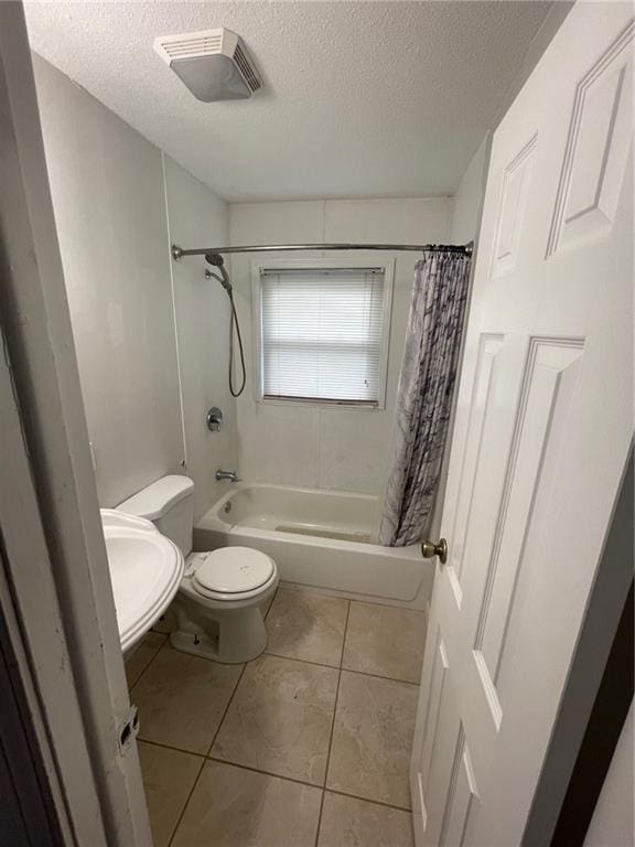
M 259 399 L 383 407 L 391 267 L 330 259 L 256 272 Z

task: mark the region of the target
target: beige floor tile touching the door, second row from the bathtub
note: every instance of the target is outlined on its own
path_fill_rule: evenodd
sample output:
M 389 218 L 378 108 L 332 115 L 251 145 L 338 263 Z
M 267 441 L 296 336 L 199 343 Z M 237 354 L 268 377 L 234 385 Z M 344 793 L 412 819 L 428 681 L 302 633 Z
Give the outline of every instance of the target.
M 326 786 L 410 807 L 418 687 L 342 672 Z

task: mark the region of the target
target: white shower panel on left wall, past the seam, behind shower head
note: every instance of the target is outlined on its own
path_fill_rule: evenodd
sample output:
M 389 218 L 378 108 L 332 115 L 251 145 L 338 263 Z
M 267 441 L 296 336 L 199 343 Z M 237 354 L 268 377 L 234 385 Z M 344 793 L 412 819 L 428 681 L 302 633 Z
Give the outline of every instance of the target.
M 227 204 L 168 156 L 165 185 L 171 244 L 229 242 Z M 172 262 L 187 473 L 194 480 L 196 517 L 227 485 L 216 482 L 216 469 L 238 467 L 236 400 L 227 384 L 229 300 L 219 282 L 205 279 L 204 267 L 203 258 Z M 212 406 L 223 411 L 219 432 L 211 432 L 205 424 Z

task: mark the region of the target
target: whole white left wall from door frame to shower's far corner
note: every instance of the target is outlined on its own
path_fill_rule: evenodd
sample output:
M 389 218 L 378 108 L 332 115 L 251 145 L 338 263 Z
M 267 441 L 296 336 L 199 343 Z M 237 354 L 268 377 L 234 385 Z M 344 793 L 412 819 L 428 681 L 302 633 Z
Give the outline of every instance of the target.
M 226 303 L 203 262 L 175 265 L 170 244 L 226 240 L 227 205 L 168 158 L 165 182 L 158 148 L 44 60 L 33 63 L 99 503 L 183 473 L 187 453 L 200 514 L 214 465 L 235 461 Z M 216 441 L 202 431 L 211 400 L 227 412 Z

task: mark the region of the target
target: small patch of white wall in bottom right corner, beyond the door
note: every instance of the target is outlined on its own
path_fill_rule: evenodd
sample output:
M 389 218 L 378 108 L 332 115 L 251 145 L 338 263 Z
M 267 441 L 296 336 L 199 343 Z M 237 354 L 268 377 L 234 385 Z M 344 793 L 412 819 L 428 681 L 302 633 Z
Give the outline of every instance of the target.
M 584 847 L 633 847 L 633 704 L 613 753 Z

